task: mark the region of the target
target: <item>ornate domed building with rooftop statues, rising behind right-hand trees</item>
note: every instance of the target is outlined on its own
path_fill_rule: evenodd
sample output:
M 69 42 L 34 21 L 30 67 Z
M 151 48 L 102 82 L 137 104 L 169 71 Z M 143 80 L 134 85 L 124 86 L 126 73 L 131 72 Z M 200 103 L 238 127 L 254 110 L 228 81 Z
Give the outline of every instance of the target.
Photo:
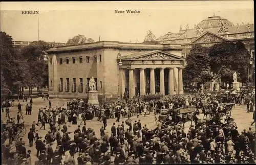
M 211 16 L 202 20 L 194 28 L 180 27 L 178 33 L 169 32 L 164 36 L 157 38 L 157 41 L 163 45 L 180 45 L 182 48 L 182 57 L 186 58 L 194 44 L 202 46 L 212 46 L 221 42 L 241 41 L 245 44 L 246 49 L 251 54 L 253 63 L 249 70 L 249 79 L 254 86 L 254 24 L 253 23 L 237 23 L 234 25 L 229 20 L 220 16 Z M 248 74 L 248 73 L 245 73 Z

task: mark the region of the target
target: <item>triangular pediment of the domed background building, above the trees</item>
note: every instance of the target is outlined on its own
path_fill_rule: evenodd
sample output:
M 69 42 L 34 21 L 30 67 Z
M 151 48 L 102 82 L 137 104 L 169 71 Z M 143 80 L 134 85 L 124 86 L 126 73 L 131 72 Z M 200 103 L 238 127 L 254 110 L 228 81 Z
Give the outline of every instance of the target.
M 211 42 L 223 42 L 223 41 L 227 41 L 227 39 L 218 34 L 206 31 L 191 43 L 211 43 Z

